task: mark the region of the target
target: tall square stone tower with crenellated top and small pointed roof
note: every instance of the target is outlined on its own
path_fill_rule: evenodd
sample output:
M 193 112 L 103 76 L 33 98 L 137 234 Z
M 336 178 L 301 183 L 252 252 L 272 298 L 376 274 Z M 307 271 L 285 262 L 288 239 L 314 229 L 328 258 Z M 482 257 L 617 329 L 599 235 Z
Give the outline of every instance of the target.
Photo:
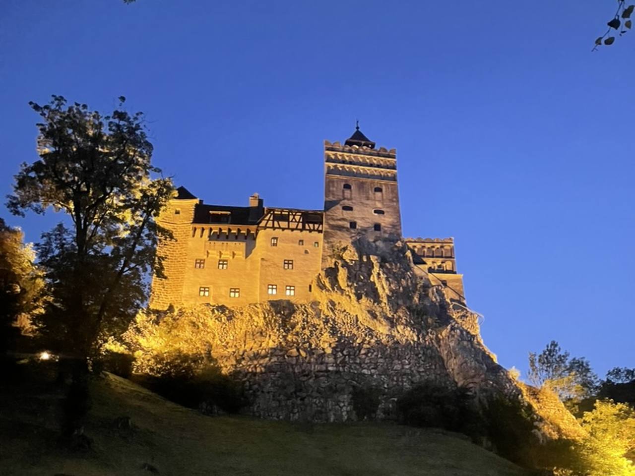
M 324 251 L 361 234 L 401 238 L 396 155 L 359 126 L 344 145 L 324 141 Z

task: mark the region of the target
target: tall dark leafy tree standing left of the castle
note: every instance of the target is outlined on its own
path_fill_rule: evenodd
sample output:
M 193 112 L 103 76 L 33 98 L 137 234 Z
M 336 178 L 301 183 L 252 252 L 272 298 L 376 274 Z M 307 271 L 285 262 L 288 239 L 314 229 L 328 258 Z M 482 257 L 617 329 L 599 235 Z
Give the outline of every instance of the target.
M 67 216 L 37 245 L 52 294 L 41 326 L 51 345 L 73 358 L 74 383 L 81 383 L 99 343 L 144 303 L 162 232 L 154 218 L 173 185 L 150 164 L 143 114 L 123 110 L 123 96 L 108 116 L 52 97 L 43 106 L 29 103 L 41 116 L 39 160 L 22 164 L 8 208 Z

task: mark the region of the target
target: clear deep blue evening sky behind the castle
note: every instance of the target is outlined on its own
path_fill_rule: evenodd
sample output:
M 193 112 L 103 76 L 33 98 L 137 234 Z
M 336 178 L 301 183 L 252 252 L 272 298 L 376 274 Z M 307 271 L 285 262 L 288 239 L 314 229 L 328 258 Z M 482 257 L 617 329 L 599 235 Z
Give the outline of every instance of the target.
M 613 2 L 2 0 L 0 192 L 36 159 L 27 102 L 147 114 L 206 202 L 323 206 L 323 140 L 398 150 L 404 234 L 455 237 L 507 367 L 558 340 L 635 366 L 635 32 Z M 59 217 L 20 219 L 29 241 Z

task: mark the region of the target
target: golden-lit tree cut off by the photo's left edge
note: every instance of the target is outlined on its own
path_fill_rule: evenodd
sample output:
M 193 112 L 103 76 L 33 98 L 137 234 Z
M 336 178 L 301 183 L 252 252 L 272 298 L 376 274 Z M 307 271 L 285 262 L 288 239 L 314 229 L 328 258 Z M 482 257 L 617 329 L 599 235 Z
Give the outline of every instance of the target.
M 43 273 L 22 240 L 22 232 L 0 218 L 0 359 L 13 345 L 17 326 L 28 326 L 43 305 Z

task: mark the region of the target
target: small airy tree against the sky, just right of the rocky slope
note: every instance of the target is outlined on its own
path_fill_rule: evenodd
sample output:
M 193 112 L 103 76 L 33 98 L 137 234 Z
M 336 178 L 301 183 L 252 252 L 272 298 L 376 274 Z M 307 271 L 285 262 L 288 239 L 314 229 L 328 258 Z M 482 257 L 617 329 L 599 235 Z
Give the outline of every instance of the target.
M 538 355 L 530 352 L 528 378 L 537 387 L 554 390 L 565 403 L 589 397 L 598 387 L 598 377 L 589 361 L 584 357 L 571 358 L 556 341 L 551 341 Z

